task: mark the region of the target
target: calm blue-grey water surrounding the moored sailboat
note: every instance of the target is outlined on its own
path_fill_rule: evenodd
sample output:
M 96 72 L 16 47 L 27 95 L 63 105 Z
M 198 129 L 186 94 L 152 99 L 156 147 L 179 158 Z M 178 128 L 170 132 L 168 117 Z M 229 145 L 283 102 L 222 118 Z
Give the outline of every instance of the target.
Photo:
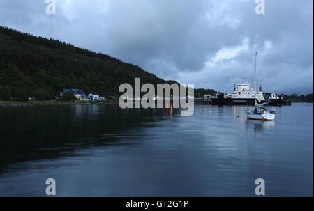
M 0 108 L 0 196 L 313 196 L 313 104 L 272 109 Z

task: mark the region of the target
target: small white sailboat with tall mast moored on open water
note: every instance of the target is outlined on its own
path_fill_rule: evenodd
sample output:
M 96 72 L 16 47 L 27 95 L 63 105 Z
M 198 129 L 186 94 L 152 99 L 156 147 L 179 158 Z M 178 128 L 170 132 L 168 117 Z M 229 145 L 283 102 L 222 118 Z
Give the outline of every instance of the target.
M 264 107 L 268 102 L 258 104 L 256 100 L 256 76 L 257 76 L 257 52 L 255 52 L 255 109 L 251 111 L 251 109 L 246 108 L 246 117 L 255 120 L 274 120 L 275 119 L 275 111 L 267 111 Z

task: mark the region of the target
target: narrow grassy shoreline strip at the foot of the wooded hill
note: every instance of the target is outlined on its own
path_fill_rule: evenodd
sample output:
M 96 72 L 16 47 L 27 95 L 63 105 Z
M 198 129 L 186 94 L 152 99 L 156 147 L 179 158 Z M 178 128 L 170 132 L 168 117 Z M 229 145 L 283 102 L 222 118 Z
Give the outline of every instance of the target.
M 115 100 L 106 100 L 100 102 L 93 101 L 31 101 L 31 102 L 15 102 L 15 101 L 0 101 L 0 108 L 5 107 L 40 107 L 40 106 L 48 106 L 48 105 L 72 105 L 72 104 L 117 104 L 118 101 Z

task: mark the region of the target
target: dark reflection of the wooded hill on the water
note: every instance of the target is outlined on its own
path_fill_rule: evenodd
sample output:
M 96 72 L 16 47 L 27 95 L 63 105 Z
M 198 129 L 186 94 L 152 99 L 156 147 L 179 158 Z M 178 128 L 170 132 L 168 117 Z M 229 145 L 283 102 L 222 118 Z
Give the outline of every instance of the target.
M 163 110 L 120 109 L 116 104 L 3 108 L 0 173 L 8 164 L 75 155 L 80 148 L 122 144 L 119 132 L 163 120 Z M 124 143 L 132 144 L 132 142 Z

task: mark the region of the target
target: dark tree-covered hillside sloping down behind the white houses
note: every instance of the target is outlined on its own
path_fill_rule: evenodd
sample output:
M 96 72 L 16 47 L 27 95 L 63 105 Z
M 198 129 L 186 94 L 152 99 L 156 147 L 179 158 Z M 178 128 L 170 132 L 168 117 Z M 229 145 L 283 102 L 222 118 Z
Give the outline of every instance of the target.
M 51 99 L 63 88 L 119 95 L 120 84 L 165 83 L 137 65 L 0 26 L 0 100 Z

